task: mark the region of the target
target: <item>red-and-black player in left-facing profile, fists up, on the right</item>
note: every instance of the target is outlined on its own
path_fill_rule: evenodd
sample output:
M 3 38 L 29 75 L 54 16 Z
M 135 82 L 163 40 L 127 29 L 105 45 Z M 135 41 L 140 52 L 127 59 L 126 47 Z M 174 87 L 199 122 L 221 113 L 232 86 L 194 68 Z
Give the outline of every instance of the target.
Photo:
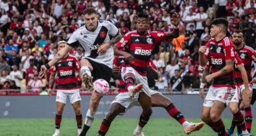
M 213 73 L 205 78 L 207 82 L 214 79 L 204 100 L 201 119 L 218 135 L 229 135 L 225 130 L 221 115 L 231 98 L 235 95 L 233 65 L 235 47 L 226 37 L 228 22 L 224 18 L 214 19 L 211 23 L 211 40 L 207 47 L 199 49 L 199 63 L 204 66 L 208 61 Z

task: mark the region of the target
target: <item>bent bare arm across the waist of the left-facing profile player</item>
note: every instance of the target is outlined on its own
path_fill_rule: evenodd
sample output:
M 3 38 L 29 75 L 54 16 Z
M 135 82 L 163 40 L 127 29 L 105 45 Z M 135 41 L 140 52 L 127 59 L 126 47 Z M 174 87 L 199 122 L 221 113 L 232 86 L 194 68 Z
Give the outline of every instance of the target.
M 230 73 L 231 71 L 233 71 L 234 60 L 226 60 L 225 62 L 226 62 L 225 67 L 220 69 L 220 71 L 205 76 L 205 79 L 207 82 L 211 82 L 211 80 L 213 80 L 213 78 L 216 78 L 218 76 L 224 76 L 224 75 Z

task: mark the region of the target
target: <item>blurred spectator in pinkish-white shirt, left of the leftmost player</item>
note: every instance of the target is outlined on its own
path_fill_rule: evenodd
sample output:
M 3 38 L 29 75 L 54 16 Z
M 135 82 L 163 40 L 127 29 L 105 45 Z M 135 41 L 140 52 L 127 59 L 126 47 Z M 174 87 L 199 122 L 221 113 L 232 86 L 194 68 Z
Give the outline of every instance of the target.
M 39 92 L 41 93 L 42 89 L 41 87 L 43 86 L 43 83 L 41 80 L 38 79 L 38 71 L 34 72 L 34 78 L 32 78 L 29 81 L 29 84 L 27 85 L 27 89 L 30 89 L 32 92 Z

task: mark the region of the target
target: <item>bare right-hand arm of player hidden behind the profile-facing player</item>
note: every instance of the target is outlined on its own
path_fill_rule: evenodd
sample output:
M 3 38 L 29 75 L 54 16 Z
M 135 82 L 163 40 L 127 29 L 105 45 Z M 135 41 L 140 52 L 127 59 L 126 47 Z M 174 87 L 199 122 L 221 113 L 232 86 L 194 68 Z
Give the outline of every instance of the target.
M 246 69 L 244 69 L 244 65 L 240 64 L 237 65 L 237 68 L 239 68 L 239 71 L 241 72 L 242 75 L 242 81 L 244 82 L 244 91 L 246 91 L 246 95 L 251 97 L 252 91 L 249 89 L 249 82 L 248 82 L 248 76 L 246 74 Z

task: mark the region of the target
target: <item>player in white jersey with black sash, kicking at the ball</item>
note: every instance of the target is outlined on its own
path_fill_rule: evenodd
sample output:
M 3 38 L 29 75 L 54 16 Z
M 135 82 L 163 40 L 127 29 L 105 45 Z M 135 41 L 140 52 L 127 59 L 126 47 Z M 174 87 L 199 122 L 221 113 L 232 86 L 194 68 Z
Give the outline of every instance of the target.
M 92 81 L 99 78 L 110 81 L 114 59 L 113 45 L 120 41 L 122 36 L 110 21 L 98 21 L 97 12 L 93 8 L 84 10 L 84 20 L 86 25 L 73 32 L 67 41 L 69 46 L 65 46 L 49 63 L 41 66 L 40 76 L 80 43 L 85 50 L 85 55 L 80 61 L 82 81 L 90 91 L 93 91 Z M 86 121 L 80 135 L 86 135 L 93 123 L 101 97 L 95 93 L 91 95 Z

